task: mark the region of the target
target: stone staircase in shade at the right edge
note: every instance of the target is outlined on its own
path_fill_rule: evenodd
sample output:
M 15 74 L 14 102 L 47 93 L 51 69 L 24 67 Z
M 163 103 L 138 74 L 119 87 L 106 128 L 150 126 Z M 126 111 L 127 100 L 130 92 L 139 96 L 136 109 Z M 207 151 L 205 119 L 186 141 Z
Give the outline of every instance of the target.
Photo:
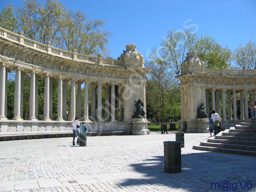
M 256 123 L 243 122 L 225 129 L 193 149 L 256 156 Z

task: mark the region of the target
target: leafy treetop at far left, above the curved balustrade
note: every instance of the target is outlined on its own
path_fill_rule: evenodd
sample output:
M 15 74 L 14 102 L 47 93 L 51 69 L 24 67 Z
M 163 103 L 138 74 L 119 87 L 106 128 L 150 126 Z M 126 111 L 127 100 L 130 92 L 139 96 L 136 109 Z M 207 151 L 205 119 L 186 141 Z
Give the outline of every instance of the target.
M 13 13 L 13 4 L 7 4 L 0 12 L 0 26 L 6 30 L 17 32 L 18 20 Z

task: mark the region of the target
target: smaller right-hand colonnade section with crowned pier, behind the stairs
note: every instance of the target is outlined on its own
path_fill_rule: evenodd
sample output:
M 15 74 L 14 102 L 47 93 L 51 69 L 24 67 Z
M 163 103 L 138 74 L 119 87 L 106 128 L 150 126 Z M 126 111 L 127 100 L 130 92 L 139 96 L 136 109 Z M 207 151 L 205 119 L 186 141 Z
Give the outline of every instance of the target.
M 187 53 L 181 67 L 182 74 L 176 76 L 181 81 L 180 131 L 208 133 L 207 118 L 197 115 L 202 103 L 206 107 L 208 117 L 211 116 L 212 109 L 221 115 L 224 128 L 249 120 L 248 100 L 255 102 L 256 70 L 205 68 L 204 62 L 193 51 Z

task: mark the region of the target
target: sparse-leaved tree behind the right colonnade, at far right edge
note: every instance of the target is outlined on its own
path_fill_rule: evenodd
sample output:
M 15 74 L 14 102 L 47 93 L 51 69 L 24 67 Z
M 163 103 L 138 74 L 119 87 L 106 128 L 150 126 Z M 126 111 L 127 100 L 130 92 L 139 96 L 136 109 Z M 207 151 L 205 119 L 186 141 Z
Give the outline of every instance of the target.
M 256 69 L 256 41 L 241 44 L 234 50 L 233 61 L 237 68 Z

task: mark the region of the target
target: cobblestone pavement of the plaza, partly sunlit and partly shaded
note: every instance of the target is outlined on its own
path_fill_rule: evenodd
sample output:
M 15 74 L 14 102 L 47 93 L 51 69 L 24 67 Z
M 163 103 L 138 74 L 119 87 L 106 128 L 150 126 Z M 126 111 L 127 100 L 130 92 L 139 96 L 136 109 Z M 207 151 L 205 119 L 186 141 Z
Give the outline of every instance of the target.
M 256 158 L 192 149 L 208 136 L 185 134 L 178 174 L 163 172 L 163 141 L 175 134 L 0 142 L 0 191 L 256 191 Z

